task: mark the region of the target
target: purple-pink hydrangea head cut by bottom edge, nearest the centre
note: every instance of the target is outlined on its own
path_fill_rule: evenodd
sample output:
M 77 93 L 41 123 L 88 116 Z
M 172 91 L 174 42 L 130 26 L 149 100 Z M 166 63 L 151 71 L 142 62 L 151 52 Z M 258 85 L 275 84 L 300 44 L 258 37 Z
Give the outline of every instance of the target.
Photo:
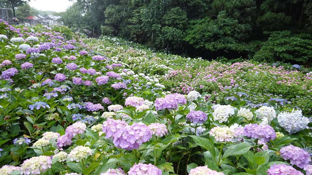
M 130 168 L 128 175 L 162 175 L 161 169 L 158 169 L 156 166 L 144 163 L 134 164 L 133 167 Z

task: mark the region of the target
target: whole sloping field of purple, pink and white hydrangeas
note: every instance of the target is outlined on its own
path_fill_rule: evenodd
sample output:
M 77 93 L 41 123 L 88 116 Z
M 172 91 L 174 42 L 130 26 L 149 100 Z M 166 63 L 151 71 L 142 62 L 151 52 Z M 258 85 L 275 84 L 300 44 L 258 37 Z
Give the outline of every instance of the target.
M 1 175 L 312 174 L 308 69 L 61 26 L 0 21 L 0 40 Z

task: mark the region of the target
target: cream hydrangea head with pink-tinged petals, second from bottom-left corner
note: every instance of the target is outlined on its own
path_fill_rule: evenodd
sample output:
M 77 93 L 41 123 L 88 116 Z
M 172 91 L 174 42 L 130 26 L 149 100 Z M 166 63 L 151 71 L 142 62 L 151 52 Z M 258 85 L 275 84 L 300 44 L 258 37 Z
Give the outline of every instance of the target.
M 21 166 L 21 174 L 40 174 L 51 168 L 51 158 L 49 156 L 38 156 L 26 159 Z

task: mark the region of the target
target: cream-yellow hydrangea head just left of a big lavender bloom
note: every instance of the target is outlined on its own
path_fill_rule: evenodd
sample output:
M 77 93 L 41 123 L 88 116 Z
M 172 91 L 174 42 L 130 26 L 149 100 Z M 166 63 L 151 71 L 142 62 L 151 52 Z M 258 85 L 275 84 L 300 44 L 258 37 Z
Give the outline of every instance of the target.
M 229 127 L 213 127 L 209 134 L 220 142 L 231 141 L 234 138 L 234 130 Z

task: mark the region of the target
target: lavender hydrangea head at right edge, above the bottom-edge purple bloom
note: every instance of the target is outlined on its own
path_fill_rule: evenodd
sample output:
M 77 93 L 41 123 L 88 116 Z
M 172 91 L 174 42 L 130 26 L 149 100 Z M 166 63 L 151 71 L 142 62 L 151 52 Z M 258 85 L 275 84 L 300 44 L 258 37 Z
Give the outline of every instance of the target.
M 291 164 L 297 165 L 299 168 L 304 168 L 306 164 L 311 163 L 311 156 L 305 150 L 289 145 L 280 149 L 280 156 L 284 159 L 290 159 Z

